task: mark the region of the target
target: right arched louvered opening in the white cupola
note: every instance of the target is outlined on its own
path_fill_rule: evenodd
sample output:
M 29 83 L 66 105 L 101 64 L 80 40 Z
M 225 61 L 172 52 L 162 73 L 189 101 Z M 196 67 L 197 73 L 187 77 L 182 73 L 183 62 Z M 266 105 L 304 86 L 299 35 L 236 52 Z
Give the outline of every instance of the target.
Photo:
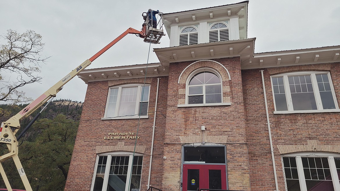
M 224 23 L 216 23 L 209 30 L 209 42 L 229 40 L 229 29 Z

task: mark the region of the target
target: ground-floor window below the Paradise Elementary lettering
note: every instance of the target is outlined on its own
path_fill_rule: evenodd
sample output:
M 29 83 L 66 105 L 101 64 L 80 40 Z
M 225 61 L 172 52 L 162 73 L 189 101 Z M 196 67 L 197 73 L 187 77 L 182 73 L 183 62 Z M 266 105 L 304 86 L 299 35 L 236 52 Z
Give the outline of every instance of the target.
M 135 154 L 133 156 L 130 152 L 117 152 L 98 155 L 97 157 L 92 191 L 131 191 L 140 189 L 142 155 Z

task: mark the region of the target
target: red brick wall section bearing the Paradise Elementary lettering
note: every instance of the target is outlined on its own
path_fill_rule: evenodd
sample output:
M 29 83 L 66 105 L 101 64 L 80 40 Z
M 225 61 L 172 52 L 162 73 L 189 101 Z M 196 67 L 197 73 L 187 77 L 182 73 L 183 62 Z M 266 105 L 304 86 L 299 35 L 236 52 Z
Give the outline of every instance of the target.
M 154 119 L 154 108 L 156 100 L 157 78 L 147 79 L 151 81 L 150 99 L 149 99 L 149 118 L 140 119 L 137 145 L 145 146 L 143 156 L 141 190 L 147 189 L 152 127 Z M 123 83 L 123 82 L 122 82 Z M 168 77 L 162 76 L 159 80 L 158 104 L 157 111 L 166 116 Z M 91 181 L 95 171 L 95 161 L 97 156 L 97 146 L 117 145 L 124 142 L 126 146 L 134 146 L 135 140 L 104 140 L 109 132 L 136 132 L 138 119 L 119 119 L 119 120 L 101 120 L 104 117 L 108 82 L 90 82 L 88 83 L 86 97 L 81 115 L 77 138 L 75 140 L 73 155 L 70 169 L 66 181 L 65 191 L 90 190 Z M 163 166 L 163 142 L 165 118 L 157 112 L 155 140 L 151 169 L 150 184 L 156 188 L 161 187 L 162 166 Z

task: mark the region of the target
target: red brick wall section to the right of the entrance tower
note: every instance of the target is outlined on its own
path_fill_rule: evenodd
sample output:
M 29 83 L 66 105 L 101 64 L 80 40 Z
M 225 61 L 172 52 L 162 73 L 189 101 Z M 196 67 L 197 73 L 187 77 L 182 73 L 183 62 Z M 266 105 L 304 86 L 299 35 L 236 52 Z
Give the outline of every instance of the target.
M 264 69 L 269 118 L 274 148 L 274 158 L 279 190 L 285 190 L 280 145 L 292 148 L 307 145 L 310 141 L 321 147 L 340 145 L 339 113 L 273 114 L 274 102 L 270 73 L 290 71 L 329 70 L 337 98 L 340 97 L 340 66 L 338 64 L 316 64 Z M 259 69 L 242 70 L 244 108 L 247 142 L 249 149 L 250 177 L 252 190 L 275 190 L 273 165 L 270 152 L 266 108 L 261 72 Z M 339 100 L 338 100 L 339 102 Z M 297 150 L 296 150 L 297 151 Z

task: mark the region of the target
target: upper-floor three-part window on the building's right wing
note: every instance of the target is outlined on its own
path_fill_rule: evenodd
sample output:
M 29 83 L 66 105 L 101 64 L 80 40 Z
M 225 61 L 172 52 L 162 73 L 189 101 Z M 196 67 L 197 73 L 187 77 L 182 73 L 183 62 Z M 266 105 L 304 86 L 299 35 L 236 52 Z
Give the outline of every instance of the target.
M 271 76 L 275 111 L 311 112 L 338 109 L 329 72 L 292 72 Z

